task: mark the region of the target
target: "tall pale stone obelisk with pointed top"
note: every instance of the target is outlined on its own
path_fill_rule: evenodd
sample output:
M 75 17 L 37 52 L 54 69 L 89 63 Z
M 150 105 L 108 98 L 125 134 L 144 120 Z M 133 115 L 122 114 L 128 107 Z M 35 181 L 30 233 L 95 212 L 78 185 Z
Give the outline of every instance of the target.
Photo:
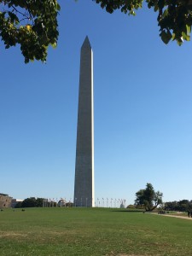
M 95 207 L 94 196 L 93 52 L 84 39 L 80 56 L 78 131 L 74 206 Z

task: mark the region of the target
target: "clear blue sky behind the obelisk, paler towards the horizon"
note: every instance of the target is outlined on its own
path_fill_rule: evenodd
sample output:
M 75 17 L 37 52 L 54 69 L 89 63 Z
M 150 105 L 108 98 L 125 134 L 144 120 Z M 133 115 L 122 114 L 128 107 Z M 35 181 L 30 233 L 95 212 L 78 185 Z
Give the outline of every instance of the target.
M 96 198 L 192 200 L 192 45 L 163 44 L 153 10 L 109 15 L 62 0 L 47 64 L 0 44 L 0 192 L 73 199 L 79 53 L 94 53 Z

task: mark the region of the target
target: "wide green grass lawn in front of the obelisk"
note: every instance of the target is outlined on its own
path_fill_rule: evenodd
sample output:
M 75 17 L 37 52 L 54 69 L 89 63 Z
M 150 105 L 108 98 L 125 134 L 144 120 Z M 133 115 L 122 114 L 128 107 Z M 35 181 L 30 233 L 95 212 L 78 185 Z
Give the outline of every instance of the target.
M 192 221 L 105 208 L 0 212 L 0 255 L 192 255 Z

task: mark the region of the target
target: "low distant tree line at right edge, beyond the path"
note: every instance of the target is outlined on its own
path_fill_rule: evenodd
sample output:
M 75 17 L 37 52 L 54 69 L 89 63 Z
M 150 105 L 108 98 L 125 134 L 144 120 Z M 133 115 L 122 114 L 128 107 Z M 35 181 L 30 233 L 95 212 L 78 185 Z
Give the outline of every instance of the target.
M 167 201 L 164 204 L 165 211 L 188 212 L 192 211 L 192 200 Z

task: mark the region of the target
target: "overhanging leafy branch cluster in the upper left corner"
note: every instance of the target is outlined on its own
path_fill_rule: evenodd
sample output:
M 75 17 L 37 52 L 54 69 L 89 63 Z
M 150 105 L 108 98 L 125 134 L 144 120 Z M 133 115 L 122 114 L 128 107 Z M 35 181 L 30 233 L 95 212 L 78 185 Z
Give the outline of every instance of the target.
M 57 44 L 56 0 L 0 0 L 0 38 L 5 48 L 20 44 L 25 62 L 46 61 L 49 44 Z

